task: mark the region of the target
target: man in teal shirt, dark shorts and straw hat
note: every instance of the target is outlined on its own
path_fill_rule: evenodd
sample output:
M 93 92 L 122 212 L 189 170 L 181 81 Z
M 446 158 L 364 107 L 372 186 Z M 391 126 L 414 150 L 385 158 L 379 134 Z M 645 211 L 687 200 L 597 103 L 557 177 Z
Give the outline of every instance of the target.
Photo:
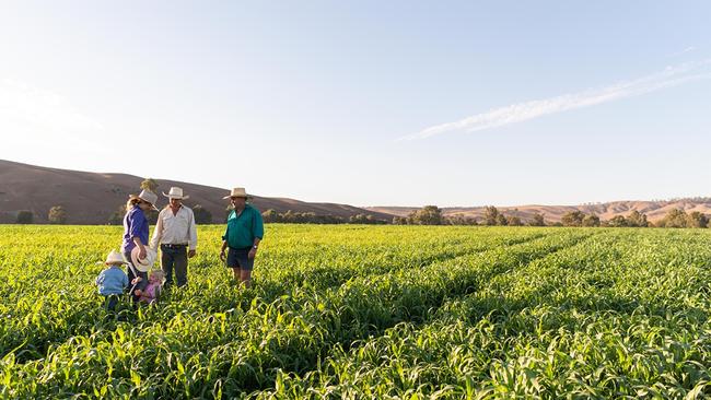
M 252 283 L 252 270 L 254 268 L 254 258 L 257 256 L 259 242 L 264 237 L 264 222 L 261 213 L 250 204 L 247 204 L 249 198 L 244 188 L 234 188 L 230 196 L 223 199 L 230 199 L 234 210 L 228 216 L 228 227 L 222 235 L 222 249 L 220 259 L 232 268 L 235 280 L 240 280 L 246 287 Z M 229 248 L 225 256 L 224 251 Z

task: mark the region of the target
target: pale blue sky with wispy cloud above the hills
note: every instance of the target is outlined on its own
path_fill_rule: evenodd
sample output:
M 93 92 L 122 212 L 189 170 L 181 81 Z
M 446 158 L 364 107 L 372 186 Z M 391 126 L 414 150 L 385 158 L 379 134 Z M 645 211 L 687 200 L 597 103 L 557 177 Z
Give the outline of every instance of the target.
M 0 158 L 353 205 L 711 196 L 708 1 L 7 1 Z

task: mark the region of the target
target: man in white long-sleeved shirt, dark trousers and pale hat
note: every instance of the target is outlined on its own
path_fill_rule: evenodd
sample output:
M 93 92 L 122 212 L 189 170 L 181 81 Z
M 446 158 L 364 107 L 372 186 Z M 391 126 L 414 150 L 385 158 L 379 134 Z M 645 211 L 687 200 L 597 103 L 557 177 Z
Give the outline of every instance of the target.
M 151 247 L 161 245 L 161 268 L 165 273 L 165 285 L 173 284 L 173 269 L 177 286 L 188 283 L 188 258 L 195 257 L 198 233 L 193 210 L 183 205 L 183 189 L 172 187 L 167 195 L 168 204 L 158 215 L 158 223 L 151 238 Z

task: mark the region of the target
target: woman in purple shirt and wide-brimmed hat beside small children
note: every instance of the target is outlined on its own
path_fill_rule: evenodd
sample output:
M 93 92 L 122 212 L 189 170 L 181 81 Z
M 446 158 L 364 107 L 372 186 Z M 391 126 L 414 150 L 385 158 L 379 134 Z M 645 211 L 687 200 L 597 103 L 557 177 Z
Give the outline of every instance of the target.
M 143 190 L 140 195 L 130 195 L 126 203 L 126 216 L 124 216 L 124 243 L 121 252 L 128 263 L 128 281 L 132 282 L 136 277 L 141 277 L 141 282 L 136 289 L 142 289 L 148 284 L 148 275 L 140 272 L 130 263 L 131 251 L 138 246 L 138 258 L 145 258 L 145 246 L 148 246 L 148 219 L 145 212 L 155 208 L 158 196 L 150 190 Z

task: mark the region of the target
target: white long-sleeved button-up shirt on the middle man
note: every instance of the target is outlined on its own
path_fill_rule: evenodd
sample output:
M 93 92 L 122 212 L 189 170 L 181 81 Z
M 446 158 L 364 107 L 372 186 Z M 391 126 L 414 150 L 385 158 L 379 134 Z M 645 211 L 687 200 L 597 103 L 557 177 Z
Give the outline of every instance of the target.
M 163 245 L 188 245 L 195 250 L 198 245 L 198 231 L 195 227 L 193 210 L 180 205 L 178 212 L 173 214 L 171 207 L 166 207 L 158 214 L 158 223 L 151 238 L 151 247 Z

